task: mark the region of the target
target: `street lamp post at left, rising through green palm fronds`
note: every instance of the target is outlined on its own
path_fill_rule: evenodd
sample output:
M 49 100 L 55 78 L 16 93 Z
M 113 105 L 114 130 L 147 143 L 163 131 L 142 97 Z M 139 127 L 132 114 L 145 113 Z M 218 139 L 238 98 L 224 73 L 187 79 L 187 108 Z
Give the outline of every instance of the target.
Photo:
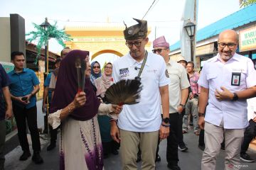
M 40 25 L 45 31 L 46 33 L 48 30 L 48 27 L 50 27 L 50 23 L 48 23 L 48 18 L 46 17 L 46 21 L 44 21 L 43 23 L 41 23 Z M 46 39 L 45 42 L 45 72 L 43 74 L 44 77 L 44 81 L 46 81 L 46 77 L 48 75 L 49 72 L 49 51 L 48 51 L 48 38 Z M 47 102 L 47 108 L 46 108 L 46 115 L 44 116 L 44 127 L 45 129 L 43 130 L 44 133 L 48 133 L 49 134 L 49 127 L 48 127 L 48 108 L 49 108 L 49 101 L 48 98 L 46 99 Z

